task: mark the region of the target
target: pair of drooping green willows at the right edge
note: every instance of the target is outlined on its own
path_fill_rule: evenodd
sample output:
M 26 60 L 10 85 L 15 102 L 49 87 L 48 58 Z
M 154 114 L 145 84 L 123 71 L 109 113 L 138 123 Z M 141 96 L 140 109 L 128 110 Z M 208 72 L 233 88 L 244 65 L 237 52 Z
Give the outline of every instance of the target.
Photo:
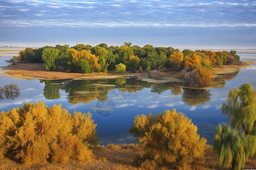
M 224 168 L 241 169 L 256 152 L 256 92 L 251 84 L 229 91 L 222 113 L 229 116 L 234 129 L 218 125 L 213 149 Z

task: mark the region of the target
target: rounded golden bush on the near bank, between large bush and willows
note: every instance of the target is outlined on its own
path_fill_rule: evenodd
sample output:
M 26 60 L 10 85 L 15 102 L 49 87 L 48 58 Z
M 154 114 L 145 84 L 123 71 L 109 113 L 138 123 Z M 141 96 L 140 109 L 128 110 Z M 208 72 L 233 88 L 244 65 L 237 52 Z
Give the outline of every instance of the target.
M 144 168 L 169 164 L 172 168 L 189 168 L 191 163 L 204 162 L 207 140 L 200 138 L 197 127 L 183 113 L 176 110 L 158 113 L 156 117 L 136 116 L 129 132 L 145 148 L 143 155 L 135 155 L 135 163 Z

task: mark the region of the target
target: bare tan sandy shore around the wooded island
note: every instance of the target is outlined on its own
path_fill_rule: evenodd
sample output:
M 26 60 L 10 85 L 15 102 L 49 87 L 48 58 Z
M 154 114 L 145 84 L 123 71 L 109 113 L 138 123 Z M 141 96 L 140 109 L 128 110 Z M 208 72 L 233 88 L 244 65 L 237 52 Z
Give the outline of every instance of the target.
M 250 64 L 254 63 L 253 61 L 243 61 L 239 65 L 222 65 L 221 67 L 214 67 L 212 69 L 213 78 L 218 74 L 229 74 L 236 73 L 239 69 L 250 67 Z M 160 78 L 148 78 L 148 72 L 139 71 L 134 73 L 125 73 L 118 74 L 114 71 L 109 73 L 66 73 L 64 69 L 59 71 L 46 71 L 43 67 L 43 63 L 28 63 L 28 62 L 18 62 L 15 65 L 10 65 L 3 67 L 3 73 L 6 75 L 13 76 L 14 78 L 20 79 L 114 79 L 127 76 L 136 76 L 139 79 L 142 79 L 146 82 L 151 83 L 166 83 L 166 82 L 181 82 L 181 71 L 163 71 L 160 72 Z

